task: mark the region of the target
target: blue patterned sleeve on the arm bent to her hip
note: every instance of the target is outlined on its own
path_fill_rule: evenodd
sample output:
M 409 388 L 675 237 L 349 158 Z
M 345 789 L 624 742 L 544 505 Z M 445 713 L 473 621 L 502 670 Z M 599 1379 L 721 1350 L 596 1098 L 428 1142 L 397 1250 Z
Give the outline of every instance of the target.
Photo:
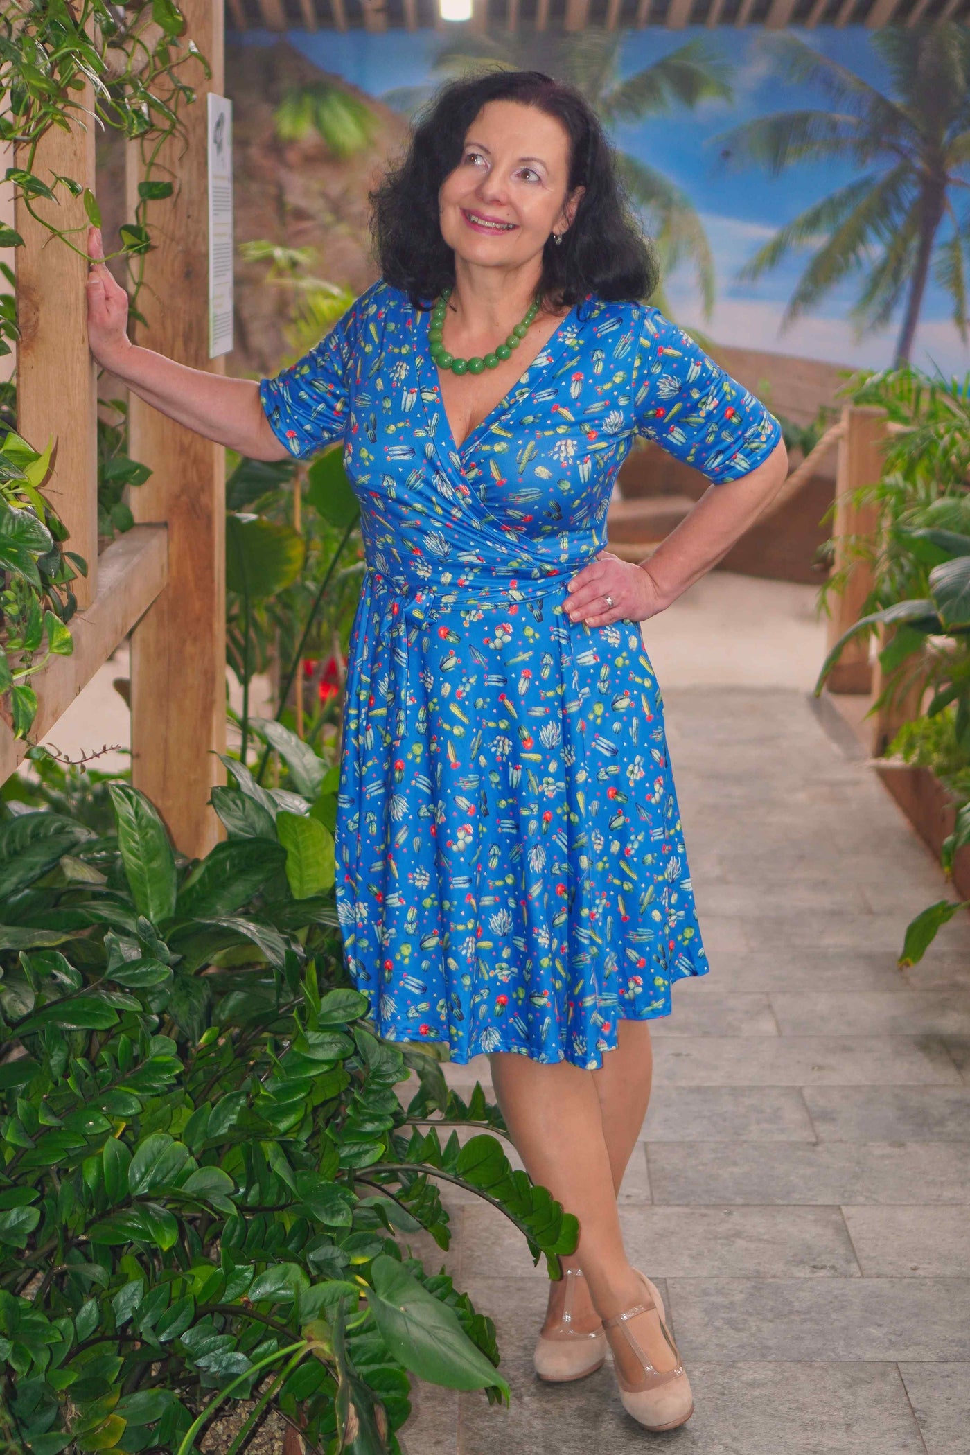
M 781 425 L 689 335 L 656 308 L 643 310 L 636 431 L 714 485 L 762 464 Z

